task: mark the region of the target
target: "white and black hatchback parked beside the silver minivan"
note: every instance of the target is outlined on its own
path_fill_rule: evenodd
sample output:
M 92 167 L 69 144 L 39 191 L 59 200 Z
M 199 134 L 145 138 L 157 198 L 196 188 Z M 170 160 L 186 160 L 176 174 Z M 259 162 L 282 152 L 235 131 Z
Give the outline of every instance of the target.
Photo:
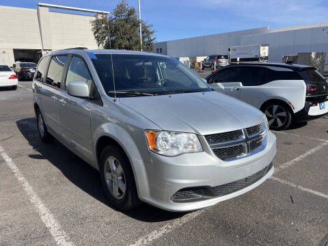
M 328 112 L 328 83 L 316 68 L 290 64 L 230 65 L 210 74 L 218 92 L 253 105 L 267 115 L 271 129 L 319 118 Z

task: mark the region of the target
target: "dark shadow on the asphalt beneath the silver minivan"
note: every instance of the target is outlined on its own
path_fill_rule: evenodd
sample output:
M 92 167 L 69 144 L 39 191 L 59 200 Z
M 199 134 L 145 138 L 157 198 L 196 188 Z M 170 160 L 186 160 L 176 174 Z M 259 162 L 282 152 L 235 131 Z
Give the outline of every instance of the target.
M 102 191 L 99 173 L 96 169 L 79 159 L 78 156 L 70 152 L 59 141 L 54 140 L 50 143 L 42 143 L 38 137 L 36 128 L 36 118 L 25 118 L 16 122 L 18 129 L 23 134 L 29 145 L 40 154 L 30 154 L 31 159 L 46 159 L 57 167 L 70 182 L 77 187 L 92 195 L 103 204 L 111 207 L 107 202 L 105 193 Z M 171 213 L 159 208 L 141 204 L 141 206 L 122 212 L 125 215 L 145 222 L 167 221 L 182 217 L 185 213 Z

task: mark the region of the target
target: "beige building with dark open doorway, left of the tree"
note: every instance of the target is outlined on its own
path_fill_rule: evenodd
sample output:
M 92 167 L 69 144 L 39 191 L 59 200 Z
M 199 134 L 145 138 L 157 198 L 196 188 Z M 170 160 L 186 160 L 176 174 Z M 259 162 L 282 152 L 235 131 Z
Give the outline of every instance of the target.
M 92 16 L 55 12 L 49 7 Z M 97 14 L 109 12 L 43 3 L 38 4 L 38 9 L 0 6 L 0 64 L 38 61 L 42 54 L 77 46 L 98 49 L 90 24 Z

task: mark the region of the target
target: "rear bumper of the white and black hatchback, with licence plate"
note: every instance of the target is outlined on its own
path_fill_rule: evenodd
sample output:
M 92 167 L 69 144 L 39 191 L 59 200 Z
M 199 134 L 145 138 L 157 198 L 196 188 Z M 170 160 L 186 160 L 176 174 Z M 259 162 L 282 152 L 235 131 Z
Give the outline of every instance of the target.
M 320 109 L 319 103 L 325 102 L 325 109 Z M 313 106 L 316 103 L 316 106 Z M 303 109 L 295 113 L 296 122 L 306 122 L 309 120 L 315 120 L 320 117 L 323 117 L 328 113 L 328 100 L 309 100 L 305 101 Z

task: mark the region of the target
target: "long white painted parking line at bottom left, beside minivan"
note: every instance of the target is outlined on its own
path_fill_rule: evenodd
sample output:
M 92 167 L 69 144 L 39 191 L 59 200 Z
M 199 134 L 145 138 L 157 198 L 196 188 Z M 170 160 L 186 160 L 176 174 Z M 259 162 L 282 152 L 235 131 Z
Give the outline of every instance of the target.
M 31 204 L 36 208 L 42 222 L 48 228 L 49 232 L 55 239 L 55 242 L 59 246 L 74 246 L 74 244 L 70 241 L 70 238 L 64 232 L 64 230 L 61 229 L 61 226 L 56 221 L 55 217 L 50 213 L 49 209 L 46 208 L 46 206 L 42 203 L 40 197 L 33 191 L 31 185 L 29 185 L 29 182 L 25 179 L 23 174 L 20 173 L 18 167 L 12 161 L 10 156 L 5 153 L 5 150 L 0 146 L 0 156 L 5 161 L 5 163 L 10 167 L 20 184 L 23 186 L 24 191 L 29 195 L 29 200 Z

